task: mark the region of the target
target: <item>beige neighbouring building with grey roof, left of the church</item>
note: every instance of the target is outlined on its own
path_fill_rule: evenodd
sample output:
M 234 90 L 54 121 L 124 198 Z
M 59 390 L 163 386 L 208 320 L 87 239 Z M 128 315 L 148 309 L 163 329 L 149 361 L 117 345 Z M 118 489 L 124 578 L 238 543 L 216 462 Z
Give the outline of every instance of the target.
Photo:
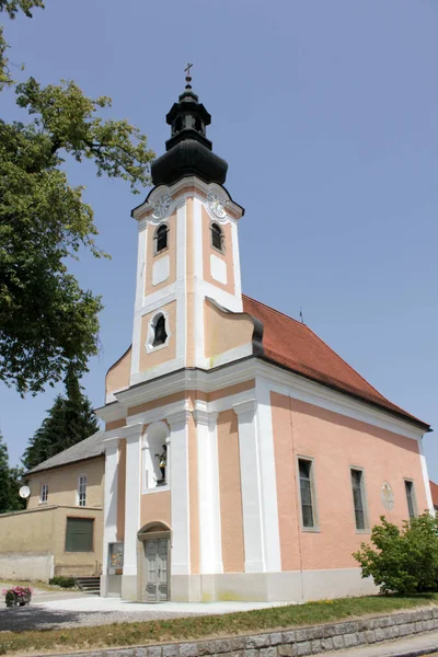
M 95 434 L 27 473 L 26 510 L 0 516 L 0 577 L 101 575 L 103 437 Z

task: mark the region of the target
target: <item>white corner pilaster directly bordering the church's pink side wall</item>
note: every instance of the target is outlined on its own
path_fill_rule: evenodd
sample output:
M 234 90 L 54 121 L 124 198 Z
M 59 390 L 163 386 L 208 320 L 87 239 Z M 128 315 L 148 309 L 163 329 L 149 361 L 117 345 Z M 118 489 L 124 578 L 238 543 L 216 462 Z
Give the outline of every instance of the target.
M 270 392 L 268 383 L 261 378 L 257 378 L 255 390 L 265 568 L 268 573 L 277 573 L 281 570 L 281 553 Z

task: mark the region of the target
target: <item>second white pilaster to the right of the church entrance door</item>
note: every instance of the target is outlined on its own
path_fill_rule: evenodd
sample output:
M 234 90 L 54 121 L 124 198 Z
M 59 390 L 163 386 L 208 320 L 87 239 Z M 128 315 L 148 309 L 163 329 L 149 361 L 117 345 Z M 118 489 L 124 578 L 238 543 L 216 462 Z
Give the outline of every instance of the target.
M 194 411 L 198 454 L 200 573 L 222 573 L 219 508 L 218 413 Z

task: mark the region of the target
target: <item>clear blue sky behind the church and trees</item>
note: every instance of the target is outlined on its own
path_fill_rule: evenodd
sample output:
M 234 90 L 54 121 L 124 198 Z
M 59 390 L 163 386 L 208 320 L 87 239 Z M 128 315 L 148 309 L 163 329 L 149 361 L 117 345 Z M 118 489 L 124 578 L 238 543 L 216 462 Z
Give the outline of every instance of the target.
M 10 58 L 43 83 L 73 79 L 113 97 L 159 154 L 165 114 L 194 62 L 229 162 L 244 291 L 298 318 L 380 392 L 438 428 L 438 5 L 434 0 L 48 0 L 5 22 Z M 2 93 L 2 116 L 25 119 Z M 127 184 L 67 164 L 87 185 L 100 245 L 76 272 L 103 296 L 100 356 L 83 379 L 95 406 L 130 343 L 137 235 Z M 269 229 L 269 239 L 263 235 Z M 280 283 L 281 281 L 281 283 Z M 285 283 L 286 281 L 286 283 Z M 0 389 L 11 462 L 50 407 Z M 425 438 L 438 481 L 435 434 Z

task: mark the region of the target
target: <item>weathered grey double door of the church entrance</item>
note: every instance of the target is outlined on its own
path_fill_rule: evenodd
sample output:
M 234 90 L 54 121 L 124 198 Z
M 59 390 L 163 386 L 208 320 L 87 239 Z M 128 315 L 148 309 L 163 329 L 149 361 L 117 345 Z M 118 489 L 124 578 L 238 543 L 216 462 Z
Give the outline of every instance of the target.
M 145 556 L 146 600 L 147 602 L 165 602 L 169 599 L 169 539 L 146 540 Z

